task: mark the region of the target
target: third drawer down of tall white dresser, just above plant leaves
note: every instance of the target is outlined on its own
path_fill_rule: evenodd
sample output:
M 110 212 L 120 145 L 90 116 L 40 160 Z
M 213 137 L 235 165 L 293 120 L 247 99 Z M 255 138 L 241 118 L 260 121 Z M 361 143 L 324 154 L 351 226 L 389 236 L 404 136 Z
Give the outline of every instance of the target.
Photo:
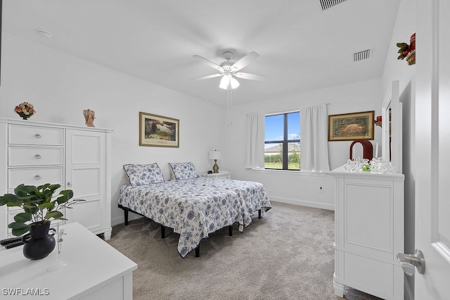
M 63 185 L 63 167 L 54 168 L 14 168 L 8 170 L 8 189 L 18 185 L 44 185 L 46 183 Z

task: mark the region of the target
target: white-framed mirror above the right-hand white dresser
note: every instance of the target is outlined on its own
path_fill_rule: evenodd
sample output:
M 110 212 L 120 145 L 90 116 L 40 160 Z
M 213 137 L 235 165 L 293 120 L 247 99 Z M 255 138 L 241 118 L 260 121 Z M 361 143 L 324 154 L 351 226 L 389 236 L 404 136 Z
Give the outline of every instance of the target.
M 401 173 L 401 116 L 399 80 L 394 80 L 387 89 L 381 108 L 381 127 L 383 128 L 382 155 L 386 162 L 390 162 L 395 172 Z

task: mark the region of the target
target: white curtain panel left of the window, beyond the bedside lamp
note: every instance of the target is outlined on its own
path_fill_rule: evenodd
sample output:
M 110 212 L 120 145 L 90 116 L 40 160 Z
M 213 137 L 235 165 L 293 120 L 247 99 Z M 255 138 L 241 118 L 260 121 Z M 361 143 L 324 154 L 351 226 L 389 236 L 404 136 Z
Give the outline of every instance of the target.
M 258 130 L 258 115 L 247 115 L 247 141 L 245 147 L 245 168 L 259 169 L 261 168 L 261 143 Z M 264 164 L 263 164 L 264 165 Z

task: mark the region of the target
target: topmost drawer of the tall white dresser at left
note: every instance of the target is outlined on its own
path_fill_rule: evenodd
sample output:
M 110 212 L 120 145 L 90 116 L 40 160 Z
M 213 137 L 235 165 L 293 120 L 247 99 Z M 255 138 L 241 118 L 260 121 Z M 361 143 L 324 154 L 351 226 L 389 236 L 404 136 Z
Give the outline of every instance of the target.
M 28 125 L 9 125 L 9 144 L 63 145 L 64 135 L 60 128 Z

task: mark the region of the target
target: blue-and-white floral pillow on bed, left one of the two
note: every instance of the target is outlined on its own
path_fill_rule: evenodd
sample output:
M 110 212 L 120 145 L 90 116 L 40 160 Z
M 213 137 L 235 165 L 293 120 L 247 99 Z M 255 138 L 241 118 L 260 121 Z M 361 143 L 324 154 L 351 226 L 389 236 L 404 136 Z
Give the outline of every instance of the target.
M 151 185 L 153 183 L 164 182 L 162 172 L 158 163 L 148 165 L 124 165 L 125 173 L 128 176 L 130 185 Z

